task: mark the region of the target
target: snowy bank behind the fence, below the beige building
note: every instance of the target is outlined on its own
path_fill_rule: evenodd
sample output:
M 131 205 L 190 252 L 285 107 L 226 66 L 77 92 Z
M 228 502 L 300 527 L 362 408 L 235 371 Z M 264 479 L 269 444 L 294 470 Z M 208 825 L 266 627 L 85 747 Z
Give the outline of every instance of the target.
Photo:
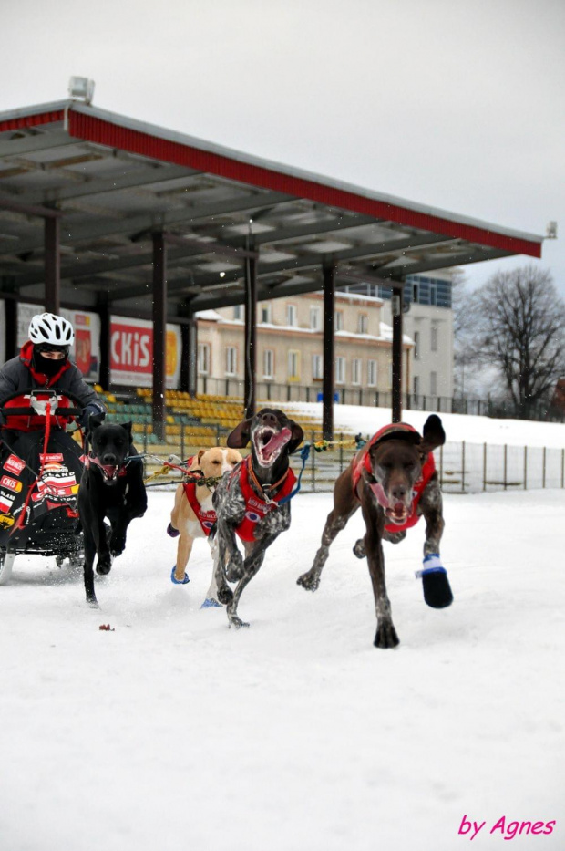
M 304 416 L 322 420 L 322 402 L 277 402 L 282 408 L 303 411 Z M 565 423 L 537 420 L 494 420 L 489 417 L 445 414 L 439 416 L 444 424 L 447 441 L 491 443 L 509 446 L 565 447 Z M 429 411 L 404 410 L 403 420 L 421 431 Z M 358 405 L 334 406 L 334 429 L 375 434 L 391 421 L 390 408 L 369 408 Z

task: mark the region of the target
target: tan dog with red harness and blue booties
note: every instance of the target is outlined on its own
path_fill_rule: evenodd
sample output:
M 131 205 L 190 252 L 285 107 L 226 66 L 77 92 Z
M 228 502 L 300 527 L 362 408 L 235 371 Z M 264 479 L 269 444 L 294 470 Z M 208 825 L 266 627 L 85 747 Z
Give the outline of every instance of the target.
M 198 473 L 204 479 L 222 476 L 231 472 L 233 467 L 241 462 L 241 454 L 235 449 L 225 449 L 213 446 L 211 449 L 201 449 L 198 455 L 190 459 L 189 472 L 194 478 Z M 213 486 L 196 481 L 183 482 L 177 487 L 175 505 L 170 513 L 170 524 L 167 533 L 171 538 L 179 537 L 177 546 L 177 561 L 172 568 L 170 579 L 175 585 L 186 585 L 190 582 L 186 573 L 192 545 L 195 538 L 208 538 L 212 553 L 211 585 L 202 603 L 202 608 L 220 606 L 216 587 L 216 562 L 218 545 L 211 531 L 216 523 L 216 513 L 212 505 Z

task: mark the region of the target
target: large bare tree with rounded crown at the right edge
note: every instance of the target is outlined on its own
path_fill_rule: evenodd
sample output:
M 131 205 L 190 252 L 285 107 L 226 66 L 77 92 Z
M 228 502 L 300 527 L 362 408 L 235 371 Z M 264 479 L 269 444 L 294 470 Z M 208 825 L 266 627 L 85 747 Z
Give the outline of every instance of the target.
M 473 298 L 478 362 L 497 368 L 521 416 L 565 375 L 565 304 L 534 265 L 493 275 Z

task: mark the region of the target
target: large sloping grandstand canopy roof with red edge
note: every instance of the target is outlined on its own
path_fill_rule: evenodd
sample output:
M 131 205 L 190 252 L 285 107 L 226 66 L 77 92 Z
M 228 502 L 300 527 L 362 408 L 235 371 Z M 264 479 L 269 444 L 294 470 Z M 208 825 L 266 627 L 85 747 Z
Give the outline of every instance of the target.
M 539 257 L 542 243 L 76 100 L 0 113 L 0 291 L 43 296 L 49 216 L 60 222 L 61 301 L 85 308 L 105 293 L 117 311 L 150 310 L 153 234 L 164 232 L 170 317 L 182 303 L 243 302 L 250 257 L 265 299 L 320 289 L 324 265 L 336 285 L 397 282 Z

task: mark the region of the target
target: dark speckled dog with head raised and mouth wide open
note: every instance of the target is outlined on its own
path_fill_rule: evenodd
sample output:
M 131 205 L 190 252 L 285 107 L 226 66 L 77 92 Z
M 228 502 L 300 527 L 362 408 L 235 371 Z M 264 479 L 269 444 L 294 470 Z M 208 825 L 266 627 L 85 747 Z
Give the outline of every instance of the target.
M 218 517 L 218 599 L 227 606 L 230 625 L 248 627 L 237 615 L 243 588 L 262 566 L 268 546 L 291 524 L 288 501 L 295 482 L 288 456 L 303 441 L 303 430 L 282 410 L 263 408 L 231 432 L 227 444 L 251 454 L 226 472 L 213 495 Z M 245 560 L 235 535 L 243 542 Z M 226 580 L 238 582 L 232 591 Z

